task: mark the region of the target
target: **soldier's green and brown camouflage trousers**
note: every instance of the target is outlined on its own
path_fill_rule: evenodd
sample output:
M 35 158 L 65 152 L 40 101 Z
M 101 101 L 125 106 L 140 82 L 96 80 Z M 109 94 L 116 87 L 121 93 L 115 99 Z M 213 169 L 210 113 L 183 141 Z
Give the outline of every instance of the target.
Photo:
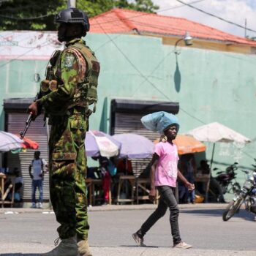
M 50 200 L 61 239 L 78 235 L 87 240 L 89 224 L 86 197 L 84 140 L 88 121 L 83 114 L 54 118 L 50 130 Z

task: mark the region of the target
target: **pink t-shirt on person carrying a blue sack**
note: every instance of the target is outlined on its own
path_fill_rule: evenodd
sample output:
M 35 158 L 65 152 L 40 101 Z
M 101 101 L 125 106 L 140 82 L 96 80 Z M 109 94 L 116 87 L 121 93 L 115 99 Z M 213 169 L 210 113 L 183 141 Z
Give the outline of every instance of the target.
M 159 155 L 155 173 L 155 186 L 176 187 L 178 175 L 178 150 L 176 145 L 159 142 L 154 146 L 154 153 Z

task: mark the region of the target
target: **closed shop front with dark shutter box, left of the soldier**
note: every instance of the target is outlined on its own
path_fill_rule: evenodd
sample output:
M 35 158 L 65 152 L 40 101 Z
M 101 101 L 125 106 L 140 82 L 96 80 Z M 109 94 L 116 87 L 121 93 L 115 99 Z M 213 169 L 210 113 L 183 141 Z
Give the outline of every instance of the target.
M 26 119 L 29 114 L 26 110 L 33 99 L 4 99 L 4 113 L 5 113 L 5 130 L 18 135 L 25 127 Z M 41 152 L 40 158 L 48 162 L 48 129 L 43 120 L 43 115 L 38 116 L 36 121 L 31 121 L 31 125 L 26 132 L 26 138 L 39 143 L 38 151 Z M 34 149 L 27 149 L 26 152 L 18 154 L 7 153 L 5 162 L 9 170 L 12 171 L 14 167 L 21 170 L 23 176 L 23 200 L 31 201 L 31 178 L 29 176 L 29 165 L 34 159 Z M 46 169 L 45 169 L 46 170 Z M 45 174 L 44 178 L 44 201 L 49 200 L 49 173 Z M 37 198 L 38 198 L 37 192 Z

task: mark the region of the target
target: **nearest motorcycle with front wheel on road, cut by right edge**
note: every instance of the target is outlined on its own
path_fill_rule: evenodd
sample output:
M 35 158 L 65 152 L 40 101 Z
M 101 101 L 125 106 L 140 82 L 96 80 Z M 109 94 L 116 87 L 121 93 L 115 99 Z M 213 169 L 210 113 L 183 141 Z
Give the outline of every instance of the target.
M 246 173 L 246 181 L 241 191 L 235 195 L 223 212 L 222 219 L 225 222 L 239 211 L 243 203 L 246 211 L 256 214 L 256 172 L 254 171 L 252 175 L 249 175 L 248 170 L 243 170 L 243 172 Z

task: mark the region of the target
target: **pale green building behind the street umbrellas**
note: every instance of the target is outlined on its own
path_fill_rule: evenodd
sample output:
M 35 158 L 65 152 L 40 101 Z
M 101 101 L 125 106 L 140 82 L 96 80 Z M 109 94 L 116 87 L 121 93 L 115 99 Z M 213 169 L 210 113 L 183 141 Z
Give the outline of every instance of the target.
M 109 13 L 113 15 L 113 12 Z M 223 32 L 223 39 L 209 38 L 206 32 L 207 37 L 203 37 L 195 23 L 194 30 L 180 29 L 180 34 L 161 34 L 154 28 L 149 32 L 134 28 L 112 34 L 108 28 L 99 31 L 94 23 L 92 19 L 86 43 L 95 51 L 101 72 L 97 113 L 90 117 L 90 129 L 110 134 L 137 132 L 155 140 L 158 135 L 146 131 L 140 124 L 145 113 L 157 110 L 176 113 L 181 134 L 218 121 L 252 142 L 246 146 L 217 143 L 213 166 L 224 170 L 238 161 L 242 168 L 251 167 L 256 157 L 256 42 L 228 34 L 224 38 Z M 182 40 L 178 41 L 184 31 L 195 37 L 192 46 L 186 47 Z M 18 134 L 23 129 L 26 108 L 39 90 L 48 59 L 53 50 L 61 47 L 53 32 L 0 32 L 2 130 Z M 43 118 L 39 117 L 31 124 L 27 135 L 39 143 L 42 157 L 47 159 L 48 126 L 43 125 Z M 206 158 L 211 159 L 213 145 L 206 143 L 206 146 Z M 28 165 L 32 157 L 33 151 L 28 150 L 4 154 L 3 161 L 9 167 L 18 165 L 29 184 Z M 202 157 L 201 154 L 198 159 Z M 238 181 L 244 181 L 241 172 Z M 29 200 L 30 185 L 26 187 L 24 199 Z M 45 198 L 48 198 L 47 186 Z

